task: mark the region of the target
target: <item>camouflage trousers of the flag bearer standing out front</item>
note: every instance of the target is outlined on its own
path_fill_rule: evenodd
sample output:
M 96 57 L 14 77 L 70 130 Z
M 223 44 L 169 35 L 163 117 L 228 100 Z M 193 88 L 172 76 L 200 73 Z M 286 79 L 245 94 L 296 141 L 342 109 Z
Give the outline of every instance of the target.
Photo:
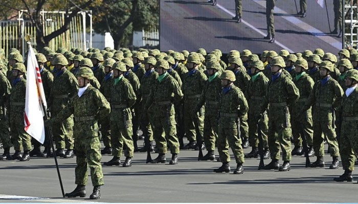
M 75 139 L 76 168 L 75 184 L 87 185 L 88 167 L 93 186 L 104 185 L 101 165 L 101 143 L 98 137 Z

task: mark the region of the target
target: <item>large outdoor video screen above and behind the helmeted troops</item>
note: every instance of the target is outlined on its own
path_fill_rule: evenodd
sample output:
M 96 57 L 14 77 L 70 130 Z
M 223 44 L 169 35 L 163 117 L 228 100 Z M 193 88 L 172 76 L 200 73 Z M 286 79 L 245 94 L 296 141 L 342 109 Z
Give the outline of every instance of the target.
M 232 49 L 287 49 L 290 53 L 322 48 L 338 54 L 342 37 L 333 34 L 333 0 L 306 0 L 306 16 L 298 15 L 300 0 L 277 0 L 274 8 L 275 42 L 267 35 L 266 1 L 242 0 L 242 20 L 235 16 L 235 0 L 161 0 L 160 48 L 190 52 L 203 47 L 219 48 L 223 53 Z M 319 4 L 321 3 L 321 4 Z M 338 13 L 338 12 L 337 12 Z M 336 14 L 337 15 L 337 14 Z M 339 32 L 339 26 L 338 32 Z

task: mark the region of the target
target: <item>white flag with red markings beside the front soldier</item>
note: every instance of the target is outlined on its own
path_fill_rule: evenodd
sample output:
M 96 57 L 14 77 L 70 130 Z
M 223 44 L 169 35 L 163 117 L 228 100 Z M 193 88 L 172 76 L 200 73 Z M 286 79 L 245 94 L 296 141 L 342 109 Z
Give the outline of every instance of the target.
M 44 141 L 44 110 L 47 109 L 40 70 L 36 56 L 29 43 L 26 75 L 26 100 L 25 100 L 25 131 L 34 139 L 43 144 Z

